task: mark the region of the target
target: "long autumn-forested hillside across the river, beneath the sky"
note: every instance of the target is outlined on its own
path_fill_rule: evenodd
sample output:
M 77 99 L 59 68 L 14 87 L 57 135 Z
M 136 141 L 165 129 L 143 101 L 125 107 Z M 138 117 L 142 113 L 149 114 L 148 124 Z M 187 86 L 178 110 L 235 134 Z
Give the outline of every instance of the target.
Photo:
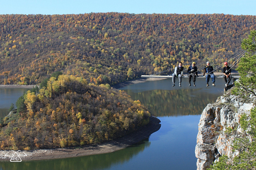
M 187 68 L 192 61 L 232 52 L 256 28 L 256 17 L 12 14 L 0 15 L 0 28 L 1 84 L 39 84 L 61 71 L 113 85 L 174 68 L 178 61 Z

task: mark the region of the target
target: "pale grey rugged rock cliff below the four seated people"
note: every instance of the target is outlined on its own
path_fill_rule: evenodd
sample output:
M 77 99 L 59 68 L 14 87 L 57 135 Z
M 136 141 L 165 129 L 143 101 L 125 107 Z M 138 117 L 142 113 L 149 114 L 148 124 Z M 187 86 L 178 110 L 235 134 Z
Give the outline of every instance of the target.
M 232 151 L 232 142 L 241 134 L 236 132 L 243 131 L 239 119 L 243 113 L 250 115 L 250 109 L 253 107 L 253 102 L 242 102 L 241 98 L 227 92 L 215 103 L 204 108 L 198 124 L 195 147 L 197 170 L 206 170 L 219 156 L 227 155 L 231 158 L 238 154 Z M 235 133 L 225 133 L 227 127 L 236 129 Z

